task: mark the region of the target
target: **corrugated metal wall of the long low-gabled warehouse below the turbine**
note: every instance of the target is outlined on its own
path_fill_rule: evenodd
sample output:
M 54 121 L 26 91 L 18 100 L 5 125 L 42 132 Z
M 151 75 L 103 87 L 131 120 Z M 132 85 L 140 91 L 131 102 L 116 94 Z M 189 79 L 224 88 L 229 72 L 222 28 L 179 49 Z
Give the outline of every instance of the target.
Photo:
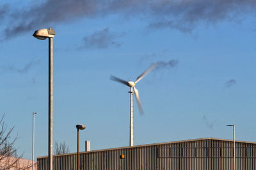
M 256 170 L 255 146 L 255 143 L 236 142 L 236 169 Z M 232 141 L 202 139 L 83 152 L 80 169 L 234 169 L 233 160 Z M 38 170 L 48 169 L 47 157 L 39 157 L 37 163 Z M 54 170 L 75 170 L 76 153 L 56 155 L 53 164 Z

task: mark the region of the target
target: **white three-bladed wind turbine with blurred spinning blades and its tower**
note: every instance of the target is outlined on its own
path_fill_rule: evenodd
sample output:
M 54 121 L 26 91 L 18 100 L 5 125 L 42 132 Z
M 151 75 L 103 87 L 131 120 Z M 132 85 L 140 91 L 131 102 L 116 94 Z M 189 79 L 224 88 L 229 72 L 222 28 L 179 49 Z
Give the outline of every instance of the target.
M 140 113 L 143 114 L 143 108 L 141 106 L 141 102 L 140 102 L 140 96 L 139 96 L 139 91 L 135 88 L 136 83 L 138 83 L 138 81 L 140 81 L 145 75 L 147 75 L 150 71 L 152 71 L 152 69 L 156 68 L 158 66 L 157 62 L 152 64 L 150 67 L 148 67 L 148 69 L 140 74 L 140 76 L 138 76 L 138 78 L 136 79 L 136 81 L 125 81 L 122 80 L 120 78 L 117 78 L 115 76 L 110 76 L 110 80 L 113 81 L 117 81 L 119 83 L 122 83 L 124 85 L 127 85 L 131 88 L 131 91 L 129 92 L 131 94 L 131 100 L 130 100 L 130 146 L 133 146 L 133 93 L 136 96 L 137 99 L 137 103 L 138 103 L 138 108 L 140 110 Z

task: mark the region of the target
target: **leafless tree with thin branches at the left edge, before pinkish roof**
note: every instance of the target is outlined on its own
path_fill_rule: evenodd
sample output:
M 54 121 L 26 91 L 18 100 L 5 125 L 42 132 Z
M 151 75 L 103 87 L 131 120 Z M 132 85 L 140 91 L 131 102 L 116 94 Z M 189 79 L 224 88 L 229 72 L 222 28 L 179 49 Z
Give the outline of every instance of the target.
M 4 122 L 4 114 L 0 119 L 0 169 L 28 169 L 31 166 L 20 167 L 19 160 L 22 155 L 17 155 L 14 144 L 17 136 L 11 139 L 14 127 L 8 128 Z

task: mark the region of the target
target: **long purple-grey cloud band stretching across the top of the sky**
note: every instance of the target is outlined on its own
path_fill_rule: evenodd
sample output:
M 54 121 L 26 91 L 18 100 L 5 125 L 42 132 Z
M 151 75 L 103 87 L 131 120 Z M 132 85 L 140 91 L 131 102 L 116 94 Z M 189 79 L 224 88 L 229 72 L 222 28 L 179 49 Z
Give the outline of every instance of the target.
M 5 36 L 15 36 L 40 27 L 81 17 L 105 15 L 147 18 L 149 27 L 170 27 L 191 32 L 197 24 L 237 20 L 246 13 L 255 14 L 255 0 L 45 0 L 23 10 L 11 9 Z M 6 14 L 0 8 L 0 16 Z M 245 17 L 244 17 L 245 18 Z

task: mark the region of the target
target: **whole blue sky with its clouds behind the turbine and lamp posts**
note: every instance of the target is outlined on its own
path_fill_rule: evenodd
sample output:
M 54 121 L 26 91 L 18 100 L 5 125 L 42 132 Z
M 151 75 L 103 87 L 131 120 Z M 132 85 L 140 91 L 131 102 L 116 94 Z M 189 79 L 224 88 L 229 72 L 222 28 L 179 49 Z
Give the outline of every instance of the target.
M 254 1 L 0 2 L 0 113 L 15 126 L 19 153 L 31 159 L 32 112 L 35 157 L 47 155 L 48 42 L 54 37 L 54 141 L 76 152 L 129 146 L 129 87 L 152 63 L 159 67 L 136 88 L 145 115 L 134 104 L 134 145 L 180 139 L 255 141 Z M 84 150 L 81 144 L 80 150 Z

